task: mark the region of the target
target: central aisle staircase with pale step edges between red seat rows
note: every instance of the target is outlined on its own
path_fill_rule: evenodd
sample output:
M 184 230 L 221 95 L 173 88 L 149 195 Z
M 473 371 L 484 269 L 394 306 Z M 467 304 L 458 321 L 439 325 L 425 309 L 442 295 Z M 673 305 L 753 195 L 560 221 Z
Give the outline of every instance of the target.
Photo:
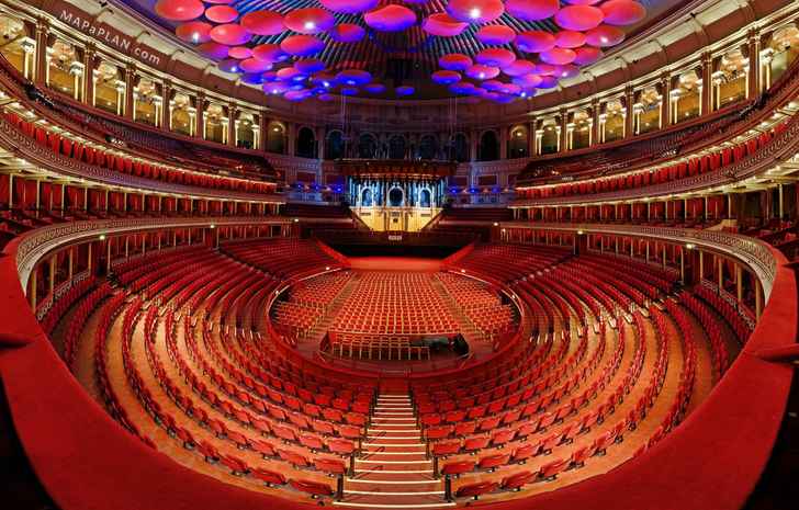
M 381 394 L 370 416 L 355 473 L 334 505 L 352 508 L 446 508 L 443 483 L 427 458 L 416 409 L 407 394 Z

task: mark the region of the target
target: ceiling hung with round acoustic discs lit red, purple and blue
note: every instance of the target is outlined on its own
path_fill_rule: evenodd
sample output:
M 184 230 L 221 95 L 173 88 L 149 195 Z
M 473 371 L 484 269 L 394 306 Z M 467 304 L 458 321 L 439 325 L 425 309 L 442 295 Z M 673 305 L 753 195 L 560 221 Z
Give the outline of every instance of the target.
M 574 77 L 675 0 L 125 0 L 265 93 L 507 103 Z M 233 78 L 233 76 L 232 76 Z

